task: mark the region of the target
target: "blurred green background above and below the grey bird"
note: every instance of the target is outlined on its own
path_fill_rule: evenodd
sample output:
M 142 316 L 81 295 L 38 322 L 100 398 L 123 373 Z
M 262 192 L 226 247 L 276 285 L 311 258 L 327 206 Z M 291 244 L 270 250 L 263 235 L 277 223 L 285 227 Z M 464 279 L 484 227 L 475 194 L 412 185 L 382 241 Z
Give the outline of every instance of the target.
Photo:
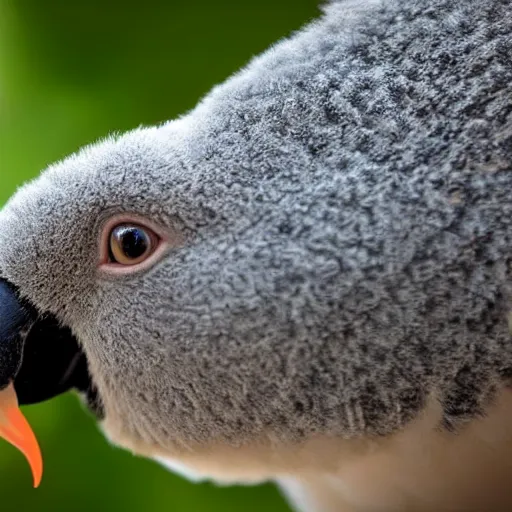
M 184 113 L 318 3 L 0 0 L 0 205 L 83 144 Z M 0 440 L 1 510 L 287 510 L 273 486 L 192 484 L 110 446 L 72 395 L 25 413 L 43 483 Z

